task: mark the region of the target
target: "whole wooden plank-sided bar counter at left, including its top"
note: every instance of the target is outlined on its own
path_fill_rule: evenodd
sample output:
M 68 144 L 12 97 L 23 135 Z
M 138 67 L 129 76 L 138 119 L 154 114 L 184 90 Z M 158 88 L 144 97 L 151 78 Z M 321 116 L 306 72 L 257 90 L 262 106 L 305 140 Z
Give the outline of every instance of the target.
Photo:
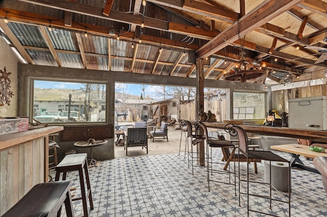
M 61 130 L 48 126 L 0 135 L 0 215 L 35 184 L 48 181 L 49 134 Z

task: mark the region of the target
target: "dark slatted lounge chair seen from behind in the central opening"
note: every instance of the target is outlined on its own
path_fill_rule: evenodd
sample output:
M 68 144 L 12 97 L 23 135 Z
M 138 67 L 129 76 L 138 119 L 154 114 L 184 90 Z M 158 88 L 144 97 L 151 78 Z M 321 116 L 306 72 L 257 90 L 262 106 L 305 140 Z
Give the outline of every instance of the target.
M 148 134 L 146 127 L 135 127 L 127 129 L 124 145 L 124 150 L 126 148 L 126 155 L 128 155 L 127 148 L 136 146 L 142 146 L 142 149 L 146 148 L 148 154 Z

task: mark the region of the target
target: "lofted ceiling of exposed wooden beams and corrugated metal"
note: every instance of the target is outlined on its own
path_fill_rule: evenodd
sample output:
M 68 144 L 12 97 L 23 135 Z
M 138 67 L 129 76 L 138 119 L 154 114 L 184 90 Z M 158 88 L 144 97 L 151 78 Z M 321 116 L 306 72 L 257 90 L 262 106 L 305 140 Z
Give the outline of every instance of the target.
M 3 0 L 0 18 L 28 64 L 196 77 L 201 59 L 205 79 L 270 85 L 327 68 L 327 0 Z

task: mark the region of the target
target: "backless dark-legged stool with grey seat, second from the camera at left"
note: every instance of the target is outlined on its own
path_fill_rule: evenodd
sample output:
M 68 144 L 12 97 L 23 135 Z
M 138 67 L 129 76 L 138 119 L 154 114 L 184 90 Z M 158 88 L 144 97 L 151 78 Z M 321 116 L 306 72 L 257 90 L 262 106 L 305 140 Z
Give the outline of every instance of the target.
M 85 193 L 85 184 L 84 184 L 84 175 L 83 168 L 86 179 L 87 193 Z M 74 198 L 73 201 L 82 200 L 83 202 L 83 212 L 84 216 L 89 216 L 87 209 L 87 198 L 90 203 L 90 208 L 94 209 L 90 180 L 88 175 L 88 167 L 87 167 L 87 154 L 69 154 L 66 155 L 63 160 L 56 166 L 56 178 L 55 180 L 59 180 L 60 173 L 62 174 L 62 180 L 66 180 L 67 172 L 78 171 L 80 177 L 80 185 L 81 185 L 81 194 L 82 197 Z

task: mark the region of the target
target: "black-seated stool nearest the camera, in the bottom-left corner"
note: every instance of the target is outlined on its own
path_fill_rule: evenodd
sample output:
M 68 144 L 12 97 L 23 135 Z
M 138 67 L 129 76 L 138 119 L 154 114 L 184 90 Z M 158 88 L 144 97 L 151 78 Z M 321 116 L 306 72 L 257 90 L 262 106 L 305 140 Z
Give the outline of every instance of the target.
M 71 181 L 45 182 L 36 184 L 11 207 L 2 217 L 60 216 L 61 206 L 65 204 L 66 215 L 73 217 Z

